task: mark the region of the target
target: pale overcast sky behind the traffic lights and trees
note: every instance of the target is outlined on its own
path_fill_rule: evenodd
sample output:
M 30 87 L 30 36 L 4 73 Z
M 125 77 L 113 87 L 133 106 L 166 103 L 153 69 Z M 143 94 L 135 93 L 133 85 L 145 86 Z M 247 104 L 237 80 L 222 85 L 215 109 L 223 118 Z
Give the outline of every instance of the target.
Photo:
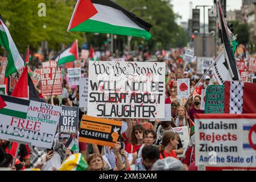
M 192 8 L 194 9 L 197 5 L 213 5 L 213 0 L 172 0 L 171 3 L 174 5 L 174 12 L 181 15 L 182 18 L 177 20 L 179 22 L 187 22 L 190 18 L 189 15 L 189 2 L 192 2 Z M 242 0 L 226 0 L 226 10 L 240 10 L 242 6 Z M 205 22 L 208 23 L 208 11 L 205 7 Z M 191 12 L 192 18 L 192 12 Z M 200 22 L 203 22 L 203 7 L 200 7 Z

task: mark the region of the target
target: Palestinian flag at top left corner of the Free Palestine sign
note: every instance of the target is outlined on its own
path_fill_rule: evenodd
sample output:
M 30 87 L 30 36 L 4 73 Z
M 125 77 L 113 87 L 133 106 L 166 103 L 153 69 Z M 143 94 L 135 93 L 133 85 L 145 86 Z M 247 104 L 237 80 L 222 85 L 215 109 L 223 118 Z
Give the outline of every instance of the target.
M 30 101 L 4 95 L 0 95 L 0 97 L 6 105 L 2 109 L 0 109 L 0 114 L 26 119 Z M 3 105 L 3 102 L 1 102 L 0 99 L 0 105 Z

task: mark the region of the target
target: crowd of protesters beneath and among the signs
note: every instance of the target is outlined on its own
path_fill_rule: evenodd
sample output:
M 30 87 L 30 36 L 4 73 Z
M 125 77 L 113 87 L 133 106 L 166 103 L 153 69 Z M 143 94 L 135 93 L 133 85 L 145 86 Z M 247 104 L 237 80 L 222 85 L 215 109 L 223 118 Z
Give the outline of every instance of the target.
M 171 104 L 171 121 L 149 121 L 149 119 L 115 118 L 123 123 L 122 136 L 114 147 L 97 146 L 96 144 L 79 142 L 81 163 L 65 144 L 59 143 L 58 134 L 51 149 L 20 144 L 18 157 L 13 170 L 72 170 L 74 168 L 88 171 L 147 171 L 147 170 L 196 170 L 195 167 L 195 132 L 192 130 L 194 115 L 204 113 L 200 109 L 201 90 L 210 84 L 218 84 L 213 73 L 208 74 L 200 83 L 201 75 L 197 75 L 196 64 L 185 64 L 182 59 L 184 51 L 177 49 L 168 59 L 159 55 L 155 61 L 166 62 L 166 104 Z M 144 61 L 148 59 L 144 55 Z M 129 59 L 133 61 L 133 59 Z M 86 65 L 84 70 L 88 72 Z M 177 79 L 189 78 L 192 97 L 187 100 L 177 98 Z M 39 91 L 40 94 L 40 91 Z M 79 86 L 71 88 L 63 80 L 61 96 L 42 97 L 48 104 L 57 106 L 79 107 Z M 79 121 L 86 109 L 80 107 Z M 80 125 L 79 125 L 80 126 Z M 183 144 L 175 127 L 188 126 L 190 141 L 183 158 Z M 10 167 L 17 149 L 17 143 L 0 140 L 0 167 Z M 73 162 L 71 162 L 73 160 Z

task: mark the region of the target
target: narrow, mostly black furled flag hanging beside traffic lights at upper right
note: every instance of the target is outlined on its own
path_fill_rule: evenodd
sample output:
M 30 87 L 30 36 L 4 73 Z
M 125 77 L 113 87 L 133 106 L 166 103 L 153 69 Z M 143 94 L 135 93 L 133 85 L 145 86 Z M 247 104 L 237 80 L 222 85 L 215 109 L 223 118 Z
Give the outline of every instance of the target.
M 230 35 L 232 35 L 232 32 L 229 30 L 228 26 L 226 25 L 224 16 L 222 14 L 221 5 L 220 2 L 217 0 L 217 11 L 218 11 L 218 17 L 220 22 L 220 32 L 221 32 L 221 40 L 224 44 L 224 53 L 225 53 L 225 63 L 228 67 L 228 71 L 230 73 L 230 76 L 232 77 L 232 80 L 238 81 L 241 80 L 236 59 L 233 52 L 232 41 L 230 38 L 234 39 Z

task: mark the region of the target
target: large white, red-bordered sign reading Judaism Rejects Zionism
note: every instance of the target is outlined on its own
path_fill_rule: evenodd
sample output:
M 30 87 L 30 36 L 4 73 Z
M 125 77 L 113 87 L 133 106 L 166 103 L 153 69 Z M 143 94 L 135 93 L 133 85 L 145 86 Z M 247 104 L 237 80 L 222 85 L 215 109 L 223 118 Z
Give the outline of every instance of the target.
M 256 114 L 196 114 L 199 170 L 256 169 Z

